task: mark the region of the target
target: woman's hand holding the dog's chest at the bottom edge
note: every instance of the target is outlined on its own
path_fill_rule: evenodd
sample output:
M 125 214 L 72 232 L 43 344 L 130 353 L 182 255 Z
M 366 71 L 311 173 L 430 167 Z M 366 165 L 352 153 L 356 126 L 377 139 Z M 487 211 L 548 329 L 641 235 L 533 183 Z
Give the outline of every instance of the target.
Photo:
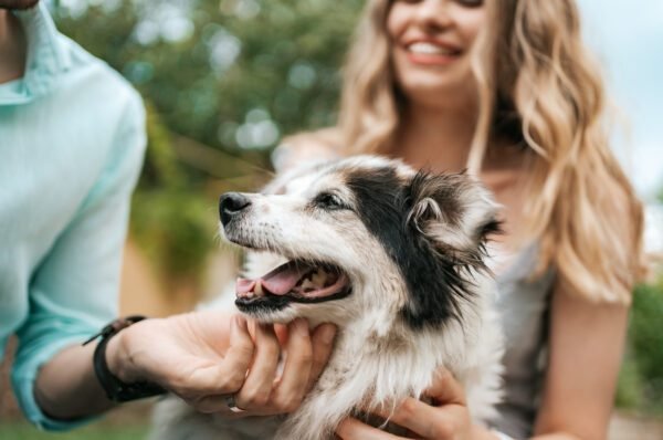
M 473 425 L 465 392 L 451 373 L 441 369 L 433 384 L 425 391 L 431 405 L 408 398 L 393 413 L 385 411 L 378 416 L 394 422 L 412 432 L 411 437 L 431 440 L 482 440 L 495 439 L 487 430 Z M 347 418 L 336 429 L 343 440 L 396 440 L 406 439 L 372 428 L 354 418 Z

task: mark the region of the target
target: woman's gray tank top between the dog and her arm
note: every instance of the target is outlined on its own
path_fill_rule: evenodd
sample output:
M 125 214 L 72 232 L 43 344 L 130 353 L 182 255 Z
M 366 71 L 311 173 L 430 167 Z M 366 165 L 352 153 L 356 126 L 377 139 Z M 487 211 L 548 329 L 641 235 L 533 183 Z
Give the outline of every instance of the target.
M 504 338 L 504 401 L 493 427 L 515 439 L 532 436 L 546 365 L 547 317 L 552 269 L 533 277 L 538 247 L 517 253 L 497 275 L 497 311 Z

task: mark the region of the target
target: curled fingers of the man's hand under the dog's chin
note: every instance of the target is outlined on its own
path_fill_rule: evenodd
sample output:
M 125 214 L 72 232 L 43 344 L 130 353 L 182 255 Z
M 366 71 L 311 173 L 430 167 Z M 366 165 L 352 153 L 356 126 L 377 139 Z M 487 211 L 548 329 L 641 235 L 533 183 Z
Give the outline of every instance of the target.
M 323 324 L 312 335 L 305 319 L 295 319 L 287 328 L 261 324 L 249 328 L 243 317 L 233 316 L 221 364 L 197 368 L 176 392 L 201 412 L 228 412 L 228 395 L 248 410 L 243 416 L 292 412 L 324 369 L 335 333 L 334 325 Z M 282 347 L 287 355 L 277 377 Z

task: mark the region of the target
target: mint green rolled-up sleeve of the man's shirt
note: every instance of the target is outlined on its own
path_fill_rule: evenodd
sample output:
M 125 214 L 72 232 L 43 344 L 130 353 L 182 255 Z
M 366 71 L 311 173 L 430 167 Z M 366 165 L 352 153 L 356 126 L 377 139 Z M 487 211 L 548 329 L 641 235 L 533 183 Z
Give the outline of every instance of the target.
M 25 415 L 46 429 L 71 426 L 49 418 L 35 401 L 33 387 L 41 367 L 65 348 L 80 345 L 118 313 L 119 272 L 129 202 L 146 138 L 145 114 L 137 93 L 128 87 L 118 90 L 116 98 L 124 99 L 123 117 L 110 148 L 99 151 L 104 155 L 104 167 L 35 270 L 29 286 L 30 313 L 17 332 L 19 348 L 12 370 L 14 391 Z M 78 356 L 88 356 L 91 347 L 86 347 L 71 352 L 81 353 L 67 357 L 71 368 L 83 365 Z M 67 356 L 73 356 L 71 353 Z M 80 380 L 86 380 L 86 377 L 88 375 L 81 374 Z M 48 389 L 42 391 L 42 396 L 53 396 Z

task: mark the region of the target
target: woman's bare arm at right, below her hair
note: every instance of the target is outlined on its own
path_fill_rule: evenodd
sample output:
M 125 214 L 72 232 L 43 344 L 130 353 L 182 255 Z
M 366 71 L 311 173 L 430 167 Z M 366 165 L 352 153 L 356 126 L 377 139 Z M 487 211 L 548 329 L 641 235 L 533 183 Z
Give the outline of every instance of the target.
M 552 293 L 549 360 L 536 439 L 604 439 L 623 354 L 628 307 Z

